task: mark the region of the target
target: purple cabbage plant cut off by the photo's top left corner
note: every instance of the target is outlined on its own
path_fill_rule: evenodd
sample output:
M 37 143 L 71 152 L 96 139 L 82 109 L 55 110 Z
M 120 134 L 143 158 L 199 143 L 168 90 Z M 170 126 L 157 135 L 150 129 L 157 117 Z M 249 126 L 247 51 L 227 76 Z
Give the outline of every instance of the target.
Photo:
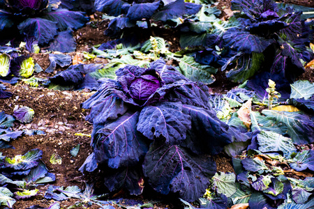
M 59 8 L 58 0 L 6 0 L 0 3 L 0 31 L 18 29 L 22 36 L 34 37 L 38 44 L 47 45 L 61 31 L 79 29 L 88 18 L 80 12 Z M 9 32 L 10 32 L 9 31 Z M 1 33 L 1 32 L 0 32 Z M 12 38 L 12 37 L 10 37 Z M 64 45 L 68 40 L 63 40 Z

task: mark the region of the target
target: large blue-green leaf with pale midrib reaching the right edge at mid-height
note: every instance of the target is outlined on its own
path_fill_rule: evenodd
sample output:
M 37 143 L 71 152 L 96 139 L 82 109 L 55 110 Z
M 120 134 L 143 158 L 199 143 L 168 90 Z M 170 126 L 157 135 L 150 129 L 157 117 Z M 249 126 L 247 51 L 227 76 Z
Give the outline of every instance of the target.
M 264 109 L 262 114 L 287 125 L 287 134 L 294 144 L 308 144 L 314 141 L 314 123 L 311 118 L 300 112 L 274 111 Z

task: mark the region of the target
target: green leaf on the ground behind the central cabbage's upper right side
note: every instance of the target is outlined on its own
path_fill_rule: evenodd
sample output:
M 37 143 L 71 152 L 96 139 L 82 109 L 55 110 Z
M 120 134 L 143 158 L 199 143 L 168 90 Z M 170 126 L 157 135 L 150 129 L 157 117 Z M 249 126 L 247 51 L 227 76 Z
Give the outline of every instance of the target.
M 188 79 L 193 82 L 203 82 L 204 84 L 214 83 L 215 78 L 212 74 L 217 72 L 216 68 L 197 63 L 192 56 L 184 56 L 179 61 L 181 73 Z

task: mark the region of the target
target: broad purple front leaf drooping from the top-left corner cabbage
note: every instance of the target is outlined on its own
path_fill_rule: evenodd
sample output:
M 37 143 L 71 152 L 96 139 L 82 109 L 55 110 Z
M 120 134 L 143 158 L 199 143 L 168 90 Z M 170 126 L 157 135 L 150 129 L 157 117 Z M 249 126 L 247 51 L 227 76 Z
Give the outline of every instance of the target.
M 24 35 L 35 37 L 39 45 L 47 44 L 58 34 L 57 22 L 43 18 L 28 18 L 17 27 Z

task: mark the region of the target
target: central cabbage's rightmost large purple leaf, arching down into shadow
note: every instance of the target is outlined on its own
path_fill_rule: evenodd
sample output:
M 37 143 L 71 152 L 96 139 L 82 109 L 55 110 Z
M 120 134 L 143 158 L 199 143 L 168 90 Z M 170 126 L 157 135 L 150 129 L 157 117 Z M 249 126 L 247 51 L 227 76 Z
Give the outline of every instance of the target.
M 231 143 L 231 136 L 227 132 L 229 126 L 220 121 L 214 111 L 184 104 L 183 112 L 190 115 L 192 121 L 183 146 L 193 153 L 216 155 Z

